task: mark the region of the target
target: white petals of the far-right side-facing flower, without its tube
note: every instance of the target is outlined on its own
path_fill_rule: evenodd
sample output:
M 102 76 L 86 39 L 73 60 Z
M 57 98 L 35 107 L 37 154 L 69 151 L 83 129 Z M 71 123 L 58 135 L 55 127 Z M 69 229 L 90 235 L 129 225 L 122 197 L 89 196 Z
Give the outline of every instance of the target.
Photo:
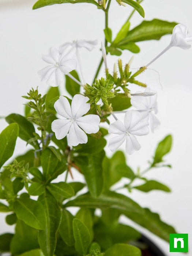
M 172 33 L 172 40 L 170 46 L 178 46 L 182 49 L 189 49 L 191 45 L 188 42 L 192 41 L 192 37 L 187 35 L 187 27 L 182 24 L 178 24 L 174 27 Z

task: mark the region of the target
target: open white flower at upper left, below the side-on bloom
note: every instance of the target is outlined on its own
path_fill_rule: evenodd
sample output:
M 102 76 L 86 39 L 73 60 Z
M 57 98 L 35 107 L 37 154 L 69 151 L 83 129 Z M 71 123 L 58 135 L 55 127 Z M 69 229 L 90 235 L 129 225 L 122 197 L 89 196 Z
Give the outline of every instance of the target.
M 73 59 L 74 50 L 67 48 L 62 54 L 55 48 L 50 48 L 48 55 L 42 55 L 42 59 L 49 63 L 47 67 L 38 71 L 41 80 L 46 80 L 49 86 L 59 86 L 64 82 L 64 75 L 74 70 L 77 66 L 77 61 Z

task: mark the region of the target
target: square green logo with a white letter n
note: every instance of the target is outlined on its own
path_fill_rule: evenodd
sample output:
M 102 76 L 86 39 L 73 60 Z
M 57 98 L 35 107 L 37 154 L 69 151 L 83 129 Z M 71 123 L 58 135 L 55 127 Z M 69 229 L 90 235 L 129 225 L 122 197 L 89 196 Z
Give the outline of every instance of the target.
M 170 234 L 169 251 L 188 252 L 188 234 Z

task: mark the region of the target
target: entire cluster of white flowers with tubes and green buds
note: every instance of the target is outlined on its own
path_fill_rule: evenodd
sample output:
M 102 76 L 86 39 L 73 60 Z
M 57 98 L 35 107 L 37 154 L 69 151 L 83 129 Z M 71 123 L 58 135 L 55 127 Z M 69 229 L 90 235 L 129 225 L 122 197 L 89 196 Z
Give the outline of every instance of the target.
M 189 49 L 191 47 L 191 45 L 188 44 L 189 41 L 192 41 L 192 37 L 187 36 L 187 28 L 181 24 L 176 25 L 173 29 L 171 42 L 165 50 L 158 54 L 158 56 L 146 66 L 140 68 L 139 71 L 131 76 L 131 78 L 135 78 L 135 76 L 143 72 L 172 46 Z M 127 81 L 123 85 L 124 87 L 121 86 L 121 83 L 116 83 L 116 86 L 114 87 L 114 77 L 108 72 L 106 60 L 107 54 L 103 44 L 101 45 L 101 49 L 105 64 L 106 79 L 101 78 L 100 80 L 95 80 L 95 83 L 92 85 L 86 84 L 80 66 L 78 49 L 83 47 L 87 50 L 93 50 L 96 44 L 97 41 L 86 40 L 67 42 L 61 45 L 59 50 L 51 48 L 48 55 L 42 56 L 42 59 L 50 65 L 39 71 L 39 76 L 41 79 L 46 80 L 50 86 L 59 86 L 63 83 L 64 75 L 68 75 L 85 89 L 85 96 L 82 94 L 74 95 L 71 105 L 69 100 L 64 96 L 60 96 L 54 103 L 54 108 L 61 118 L 52 122 L 52 131 L 55 133 L 58 140 L 67 136 L 68 144 L 70 146 L 87 143 L 86 133 L 91 134 L 99 131 L 99 116 L 102 116 L 103 114 L 100 108 L 100 103 L 109 106 L 108 99 L 116 97 L 118 91 L 120 91 L 120 89 L 117 90 L 117 87 L 120 86 L 124 92 L 127 92 L 127 97 L 131 98 L 131 106 L 133 109 L 121 111 L 122 113 L 125 112 L 124 123 L 122 123 L 116 117 L 116 113 L 113 112 L 113 106 L 110 105 L 110 108 L 108 108 L 110 109 L 110 113 L 107 114 L 112 114 L 116 120 L 109 125 L 109 133 L 115 135 L 109 140 L 109 148 L 111 151 L 116 151 L 121 144 L 126 142 L 125 150 L 127 154 L 132 154 L 141 147 L 136 136 L 147 135 L 150 131 L 149 126 L 151 131 L 154 132 L 160 125 L 158 118 L 155 116 L 155 114 L 157 114 L 157 95 L 148 88 L 144 92 L 139 91 L 138 93 L 131 94 L 126 88 Z M 78 61 L 76 61 L 76 59 Z M 82 83 L 69 74 L 69 72 L 77 67 L 77 63 L 79 65 Z M 120 64 L 122 67 L 122 63 Z M 125 66 L 125 73 L 127 71 L 126 74 L 128 76 L 131 75 L 131 72 L 129 72 L 129 64 L 130 63 Z M 116 77 L 116 68 L 114 70 L 114 75 Z M 120 72 L 120 75 L 122 76 L 121 73 L 123 74 L 123 69 L 122 72 Z M 131 80 L 129 82 L 131 82 Z M 143 86 L 143 83 L 138 82 L 136 84 Z M 93 103 L 95 103 L 96 112 L 94 114 L 89 114 L 90 106 Z

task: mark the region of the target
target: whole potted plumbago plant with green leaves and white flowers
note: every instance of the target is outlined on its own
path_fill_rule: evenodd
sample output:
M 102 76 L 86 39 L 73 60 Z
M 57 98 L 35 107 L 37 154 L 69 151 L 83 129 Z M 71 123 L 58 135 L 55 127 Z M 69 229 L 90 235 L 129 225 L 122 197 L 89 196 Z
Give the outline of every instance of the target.
M 5 118 L 9 125 L 0 134 L 0 211 L 7 212 L 5 220 L 15 225 L 15 233 L 0 236 L 1 252 L 22 256 L 139 256 L 141 234 L 122 224 L 121 215 L 166 241 L 170 233 L 176 233 L 157 213 L 124 195 L 133 189 L 170 192 L 145 174 L 153 168 L 171 167 L 164 161 L 172 146 L 171 135 L 158 144 L 146 170 L 132 170 L 126 159 L 140 149 L 137 136 L 154 132 L 160 124 L 155 116 L 156 94 L 138 80 L 139 75 L 172 46 L 190 48 L 192 39 L 184 25 L 159 19 L 143 20 L 130 30 L 135 10 L 144 17 L 142 0 L 117 0 L 119 5 L 131 5 L 133 11 L 114 38 L 108 26 L 111 0 L 39 0 L 34 9 L 83 2 L 96 5 L 105 14 L 105 45 L 93 83 L 86 83 L 83 77 L 79 50 L 93 50 L 96 41 L 77 40 L 59 49 L 50 48 L 48 55 L 42 56 L 47 66 L 39 71 L 40 78 L 51 86 L 47 94 L 42 96 L 38 89 L 31 89 L 23 96 L 27 100 L 25 115 L 13 113 Z M 118 59 L 114 70 L 108 69 L 107 54 L 120 56 L 124 50 L 138 53 L 136 42 L 158 40 L 171 33 L 169 46 L 136 72 L 130 71 L 131 60 L 123 64 Z M 106 76 L 98 79 L 103 61 Z M 81 79 L 75 71 L 77 64 Z M 64 79 L 68 97 L 59 92 Z M 129 84 L 135 84 L 138 92 L 132 93 Z M 118 119 L 119 112 L 124 113 L 123 122 Z M 114 121 L 109 121 L 110 116 Z M 7 163 L 17 137 L 31 149 Z M 104 150 L 108 137 L 114 152 L 110 158 Z M 126 154 L 117 151 L 124 142 Z M 84 183 L 76 180 L 76 172 L 84 177 Z M 127 180 L 121 187 L 124 194 L 115 185 L 122 177 Z M 76 214 L 71 207 L 78 207 Z

